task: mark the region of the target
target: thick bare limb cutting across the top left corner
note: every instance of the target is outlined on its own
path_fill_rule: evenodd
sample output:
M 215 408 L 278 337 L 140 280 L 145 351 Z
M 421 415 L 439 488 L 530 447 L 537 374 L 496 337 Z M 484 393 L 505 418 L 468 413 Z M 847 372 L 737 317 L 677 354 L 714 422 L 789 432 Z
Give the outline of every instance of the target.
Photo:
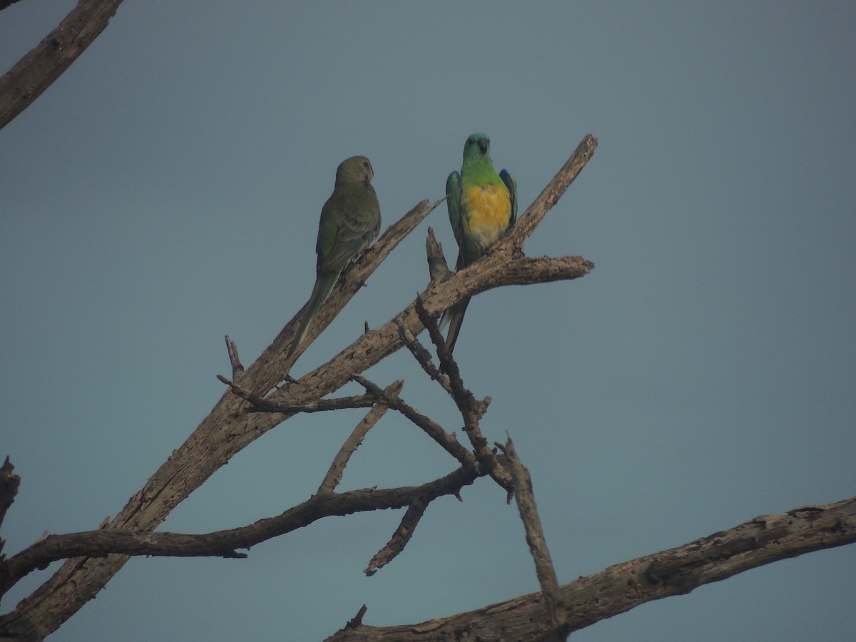
M 121 3 L 122 0 L 80 0 L 59 27 L 3 74 L 0 78 L 0 129 L 27 109 L 77 60 L 104 31 Z

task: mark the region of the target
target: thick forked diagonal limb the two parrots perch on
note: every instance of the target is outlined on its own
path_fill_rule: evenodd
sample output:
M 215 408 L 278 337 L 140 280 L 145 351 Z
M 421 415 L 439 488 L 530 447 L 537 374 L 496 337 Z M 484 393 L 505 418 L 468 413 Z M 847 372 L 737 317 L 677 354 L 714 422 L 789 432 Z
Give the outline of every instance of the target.
M 593 146 L 585 152 L 588 156 L 591 155 L 591 149 Z M 588 156 L 581 161 L 574 160 L 575 157 L 571 160 L 578 164 L 578 161 L 585 164 Z M 562 193 L 573 181 L 575 175 L 574 172 L 560 171 L 544 192 Z M 330 298 L 318 312 L 318 317 L 308 333 L 309 338 L 317 336 L 330 323 L 330 320 L 366 282 L 368 276 L 386 258 L 392 248 L 439 202 L 441 201 L 428 205 L 427 201 L 424 201 L 413 208 L 413 211 L 408 212 L 401 221 L 390 226 L 362 259 L 348 270 L 347 274 L 342 275 Z M 550 199 L 547 199 L 544 211 L 549 209 L 550 205 Z M 580 257 L 527 259 L 518 255 L 509 259 L 508 256 L 500 257 L 500 253 L 491 252 L 477 264 L 471 265 L 467 270 L 461 270 L 447 281 L 432 282 L 420 297 L 429 314 L 439 315 L 444 309 L 464 297 L 490 288 L 506 284 L 579 278 L 588 274 L 593 267 L 591 262 Z M 413 306 L 414 304 L 411 303 L 397 316 L 415 336 L 422 330 L 422 324 Z M 300 354 L 298 351 L 290 359 L 287 356 L 299 321 L 300 312 L 280 331 L 259 359 L 241 375 L 242 387 L 253 390 L 256 394 L 265 395 L 277 382 L 287 377 L 291 364 Z M 304 342 L 304 345 L 308 345 L 308 342 Z M 289 383 L 266 398 L 270 401 L 282 400 L 298 404 L 318 401 L 324 395 L 342 387 L 354 373 L 363 372 L 366 368 L 374 366 L 402 345 L 403 341 L 397 324 L 395 321 L 389 321 L 381 328 L 360 336 L 356 342 L 324 366 L 318 367 L 301 377 L 300 381 Z M 227 463 L 232 456 L 274 425 L 282 423 L 291 416 L 290 414 L 241 413 L 244 403 L 240 397 L 231 393 L 223 395 L 187 441 L 176 449 L 169 460 L 164 462 L 146 482 L 146 485 L 130 498 L 125 508 L 122 508 L 110 523 L 110 530 L 153 530 L 169 514 L 169 511 L 204 483 L 219 467 Z M 68 560 L 51 580 L 22 600 L 14 611 L 0 617 L 0 633 L 10 633 L 21 639 L 44 638 L 83 604 L 95 597 L 95 594 L 127 560 L 128 557 L 122 555 Z

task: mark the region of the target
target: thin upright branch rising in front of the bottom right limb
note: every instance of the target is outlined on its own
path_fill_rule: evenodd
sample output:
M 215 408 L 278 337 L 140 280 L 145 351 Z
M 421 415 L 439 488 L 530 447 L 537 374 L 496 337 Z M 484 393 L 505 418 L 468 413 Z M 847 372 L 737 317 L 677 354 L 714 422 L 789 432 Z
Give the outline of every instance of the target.
M 535 506 L 535 495 L 532 492 L 532 477 L 526 467 L 520 463 L 517 451 L 511 436 L 506 432 L 506 443 L 496 446 L 508 457 L 508 467 L 511 477 L 514 479 L 514 497 L 517 499 L 517 509 L 520 511 L 520 520 L 526 529 L 526 544 L 529 544 L 529 552 L 535 561 L 535 574 L 538 575 L 538 584 L 544 593 L 544 605 L 550 621 L 553 623 L 554 639 L 568 639 L 568 611 L 562 602 L 562 593 L 559 591 L 559 580 L 556 579 L 556 568 L 547 548 L 547 539 L 544 538 L 544 528 L 541 526 L 541 518 L 538 517 L 538 508 Z

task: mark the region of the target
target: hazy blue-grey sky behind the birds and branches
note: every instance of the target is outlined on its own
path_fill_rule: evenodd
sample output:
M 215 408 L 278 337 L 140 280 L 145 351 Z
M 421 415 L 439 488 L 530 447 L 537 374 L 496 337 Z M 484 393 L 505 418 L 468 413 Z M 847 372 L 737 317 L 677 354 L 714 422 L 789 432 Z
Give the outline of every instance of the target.
M 0 71 L 74 2 L 0 12 Z M 483 428 L 514 437 L 559 580 L 759 514 L 856 492 L 856 3 L 123 3 L 0 131 L 0 455 L 12 554 L 115 515 L 308 298 L 336 165 L 372 159 L 383 226 L 443 196 L 490 134 L 521 211 L 585 134 L 597 152 L 530 256 L 574 282 L 473 300 L 455 354 Z M 438 209 L 294 366 L 425 287 Z M 369 372 L 449 430 L 409 354 Z M 162 526 L 246 525 L 318 487 L 361 411 L 270 431 Z M 389 413 L 342 489 L 455 467 Z M 243 561 L 129 562 L 52 639 L 317 640 L 538 590 L 489 480 L 434 502 L 376 576 L 401 511 L 330 519 Z M 3 601 L 14 608 L 56 569 Z M 574 634 L 856 639 L 856 546 L 741 574 Z

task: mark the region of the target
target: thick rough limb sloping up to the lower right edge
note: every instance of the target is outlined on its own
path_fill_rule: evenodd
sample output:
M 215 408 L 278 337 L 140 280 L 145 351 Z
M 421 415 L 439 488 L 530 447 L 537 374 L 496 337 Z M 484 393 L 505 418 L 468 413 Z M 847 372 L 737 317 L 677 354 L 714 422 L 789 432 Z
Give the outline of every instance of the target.
M 824 506 L 795 508 L 785 515 L 762 515 L 728 531 L 616 564 L 562 586 L 568 626 L 577 631 L 639 604 L 683 595 L 750 568 L 853 542 L 856 497 Z M 456 635 L 462 631 L 470 639 L 482 642 L 540 640 L 552 630 L 544 615 L 543 599 L 542 593 L 532 593 L 416 625 L 355 624 L 326 642 L 443 642 L 460 639 Z

